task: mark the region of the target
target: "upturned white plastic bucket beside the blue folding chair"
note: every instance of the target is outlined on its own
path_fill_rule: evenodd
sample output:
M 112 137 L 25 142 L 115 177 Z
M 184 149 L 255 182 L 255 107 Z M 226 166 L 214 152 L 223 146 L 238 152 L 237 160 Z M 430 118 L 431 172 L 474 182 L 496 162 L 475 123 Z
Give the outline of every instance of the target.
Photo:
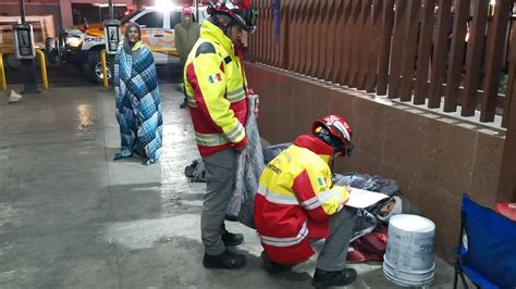
M 401 214 L 389 221 L 383 275 L 400 286 L 422 287 L 433 281 L 435 224 L 418 215 Z

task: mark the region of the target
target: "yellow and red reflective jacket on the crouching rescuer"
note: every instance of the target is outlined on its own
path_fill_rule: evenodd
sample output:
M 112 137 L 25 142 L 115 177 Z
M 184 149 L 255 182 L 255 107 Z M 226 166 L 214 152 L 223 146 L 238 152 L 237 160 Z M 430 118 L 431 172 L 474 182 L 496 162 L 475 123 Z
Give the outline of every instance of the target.
M 347 202 L 347 190 L 332 186 L 332 152 L 320 139 L 299 136 L 263 169 L 255 197 L 255 226 L 273 261 L 308 260 L 314 254 L 309 239 L 327 238 L 330 217 Z

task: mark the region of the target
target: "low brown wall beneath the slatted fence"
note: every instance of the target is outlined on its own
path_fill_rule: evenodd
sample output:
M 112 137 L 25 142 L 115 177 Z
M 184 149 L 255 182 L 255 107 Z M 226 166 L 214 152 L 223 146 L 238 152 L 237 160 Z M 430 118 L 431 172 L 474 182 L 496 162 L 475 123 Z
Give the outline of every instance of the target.
M 503 133 L 260 64 L 247 63 L 246 73 L 260 95 L 260 134 L 272 143 L 309 133 L 324 114 L 346 117 L 356 150 L 335 171 L 395 179 L 435 223 L 434 249 L 445 260 L 457 242 L 462 193 L 494 203 Z

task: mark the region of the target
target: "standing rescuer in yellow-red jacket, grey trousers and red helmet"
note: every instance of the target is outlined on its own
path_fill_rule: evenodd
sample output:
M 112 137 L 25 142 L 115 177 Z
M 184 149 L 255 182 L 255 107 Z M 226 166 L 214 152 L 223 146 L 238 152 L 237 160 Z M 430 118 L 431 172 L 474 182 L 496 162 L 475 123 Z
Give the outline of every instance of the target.
M 247 144 L 246 79 L 234 45 L 243 30 L 256 29 L 250 0 L 216 0 L 209 3 L 210 18 L 200 27 L 200 38 L 186 60 L 184 78 L 197 146 L 206 163 L 207 193 L 201 214 L 205 244 L 202 265 L 236 269 L 245 266 L 242 254 L 226 250 L 244 241 L 241 234 L 225 230 L 225 210 L 232 197 L 235 151 Z

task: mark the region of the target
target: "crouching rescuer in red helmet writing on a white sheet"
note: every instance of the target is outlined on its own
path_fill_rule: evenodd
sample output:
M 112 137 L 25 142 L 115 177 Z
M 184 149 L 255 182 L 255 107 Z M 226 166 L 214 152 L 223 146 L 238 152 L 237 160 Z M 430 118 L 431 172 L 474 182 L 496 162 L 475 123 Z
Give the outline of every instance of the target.
M 332 158 L 349 155 L 351 138 L 346 121 L 328 115 L 314 123 L 312 135 L 298 136 L 267 164 L 255 198 L 255 225 L 268 272 L 307 261 L 314 254 L 310 239 L 324 238 L 312 285 L 346 286 L 356 279 L 356 272 L 345 268 L 356 210 L 344 206 L 348 193 L 332 186 L 329 166 Z

